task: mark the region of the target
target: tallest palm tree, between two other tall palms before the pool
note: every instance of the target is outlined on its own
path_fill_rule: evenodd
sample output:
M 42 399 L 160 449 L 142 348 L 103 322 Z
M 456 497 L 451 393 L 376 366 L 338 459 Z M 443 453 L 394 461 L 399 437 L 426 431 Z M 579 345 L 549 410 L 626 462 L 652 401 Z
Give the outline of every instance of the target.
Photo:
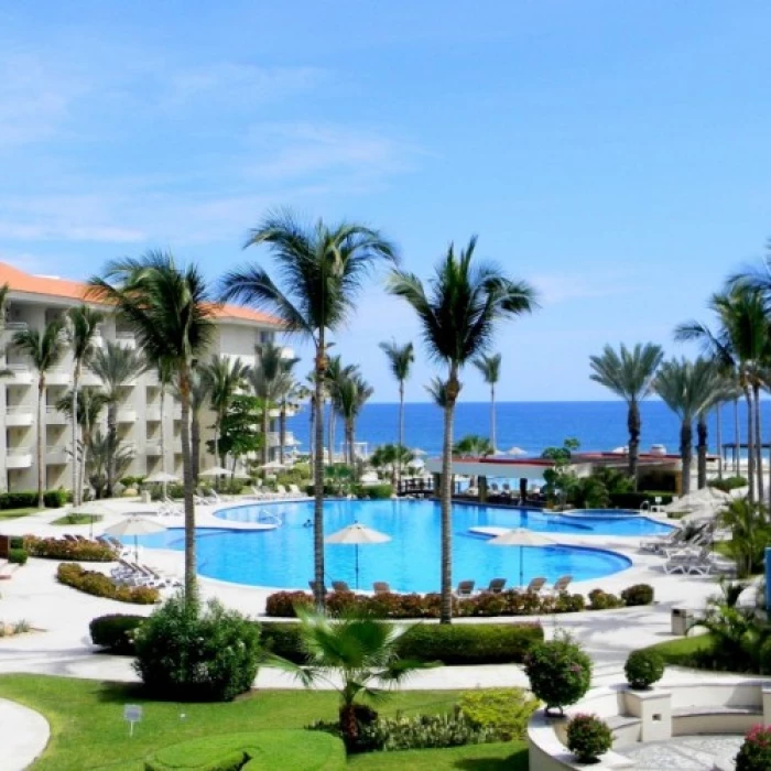
M 222 296 L 270 311 L 285 332 L 313 343 L 316 399 L 314 409 L 314 579 L 318 607 L 324 605 L 324 415 L 327 333 L 338 329 L 371 270 L 397 260 L 395 247 L 377 230 L 318 221 L 305 227 L 289 211 L 269 215 L 249 235 L 247 247 L 267 243 L 278 262 L 283 287 L 259 267 L 231 271 Z

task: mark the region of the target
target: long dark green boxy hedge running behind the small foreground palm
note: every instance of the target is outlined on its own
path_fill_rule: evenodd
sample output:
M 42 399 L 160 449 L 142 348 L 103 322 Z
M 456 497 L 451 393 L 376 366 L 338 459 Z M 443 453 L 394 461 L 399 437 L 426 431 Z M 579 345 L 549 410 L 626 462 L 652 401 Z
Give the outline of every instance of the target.
M 263 621 L 267 652 L 296 664 L 307 663 L 298 623 Z M 415 623 L 399 639 L 401 659 L 458 664 L 521 663 L 534 642 L 543 640 L 540 623 Z

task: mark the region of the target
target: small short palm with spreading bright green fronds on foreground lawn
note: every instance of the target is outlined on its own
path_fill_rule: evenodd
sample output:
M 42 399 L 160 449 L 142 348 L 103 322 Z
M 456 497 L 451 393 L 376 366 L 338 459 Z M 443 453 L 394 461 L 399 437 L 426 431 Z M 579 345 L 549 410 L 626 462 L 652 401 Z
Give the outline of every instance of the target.
M 347 743 L 358 736 L 359 699 L 377 702 L 416 670 L 434 664 L 400 659 L 399 639 L 406 631 L 387 621 L 344 615 L 330 619 L 308 608 L 296 608 L 306 665 L 271 656 L 268 663 L 295 675 L 305 687 L 332 685 L 340 696 L 340 731 Z

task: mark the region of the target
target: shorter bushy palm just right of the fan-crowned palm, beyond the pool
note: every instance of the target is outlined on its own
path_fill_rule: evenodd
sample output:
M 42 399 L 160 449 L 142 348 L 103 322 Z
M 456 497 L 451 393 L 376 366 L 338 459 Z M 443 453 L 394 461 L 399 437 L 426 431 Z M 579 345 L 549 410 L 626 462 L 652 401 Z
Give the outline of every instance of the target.
M 717 370 L 712 361 L 672 359 L 659 368 L 653 390 L 681 421 L 680 455 L 683 463 L 683 495 L 691 492 L 693 421 L 715 403 Z

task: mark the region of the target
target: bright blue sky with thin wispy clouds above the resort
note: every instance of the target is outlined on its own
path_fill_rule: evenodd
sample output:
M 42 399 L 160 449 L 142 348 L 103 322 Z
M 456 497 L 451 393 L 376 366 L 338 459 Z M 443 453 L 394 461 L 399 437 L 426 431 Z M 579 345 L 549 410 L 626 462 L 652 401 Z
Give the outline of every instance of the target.
M 428 275 L 476 232 L 542 293 L 500 329 L 500 398 L 604 399 L 591 352 L 684 352 L 672 327 L 763 253 L 770 28 L 750 0 L 6 3 L 0 259 L 83 278 L 169 247 L 214 281 L 269 261 L 245 234 L 289 205 Z M 373 282 L 337 349 L 378 401 L 390 337 L 416 326 Z M 431 374 L 421 351 L 409 399 Z

